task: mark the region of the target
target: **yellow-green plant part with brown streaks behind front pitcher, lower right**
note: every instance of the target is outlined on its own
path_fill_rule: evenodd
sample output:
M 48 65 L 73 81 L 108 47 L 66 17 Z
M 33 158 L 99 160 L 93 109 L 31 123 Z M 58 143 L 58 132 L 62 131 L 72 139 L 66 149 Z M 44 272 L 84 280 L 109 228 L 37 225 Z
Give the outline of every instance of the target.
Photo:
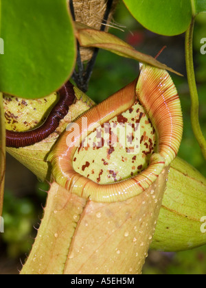
M 205 211 L 205 177 L 184 160 L 176 158 L 170 167 L 150 248 L 176 252 L 205 245 L 206 233 L 201 232 L 201 218 Z

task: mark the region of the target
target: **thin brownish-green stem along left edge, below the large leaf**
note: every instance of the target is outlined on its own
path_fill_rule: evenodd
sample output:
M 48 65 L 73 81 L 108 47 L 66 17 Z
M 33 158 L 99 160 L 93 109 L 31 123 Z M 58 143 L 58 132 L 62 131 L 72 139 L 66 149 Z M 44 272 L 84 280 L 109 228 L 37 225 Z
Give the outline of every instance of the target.
M 2 93 L 0 93 L 0 216 L 2 214 L 3 209 L 4 176 L 5 176 L 5 119 L 3 113 L 3 95 Z

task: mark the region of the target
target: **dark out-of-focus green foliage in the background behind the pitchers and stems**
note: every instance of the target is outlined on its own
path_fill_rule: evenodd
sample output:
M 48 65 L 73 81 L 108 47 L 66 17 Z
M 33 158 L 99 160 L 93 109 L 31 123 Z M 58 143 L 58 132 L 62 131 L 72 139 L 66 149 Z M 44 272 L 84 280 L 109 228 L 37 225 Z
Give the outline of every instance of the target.
M 172 75 L 179 91 L 184 117 L 184 134 L 179 156 L 206 176 L 205 160 L 198 147 L 190 121 L 190 93 L 187 85 L 184 55 L 184 34 L 164 37 L 144 29 L 133 16 L 120 4 L 115 14 L 115 28 L 110 32 L 133 45 L 141 52 L 156 56 L 166 45 L 159 60 L 184 77 Z M 202 55 L 201 38 L 206 38 L 206 14 L 196 19 L 194 31 L 194 60 L 196 82 L 200 98 L 200 119 L 203 133 L 206 136 L 206 55 Z M 132 82 L 139 73 L 139 64 L 114 55 L 108 51 L 100 51 L 89 85 L 88 95 L 96 101 L 102 101 L 120 88 Z M 7 156 L 5 179 L 5 202 L 3 217 L 5 233 L 0 237 L 0 274 L 17 274 L 21 269 L 21 261 L 29 254 L 34 237 L 43 215 L 46 191 L 49 185 L 36 180 L 35 176 Z M 190 234 L 190 231 L 186 231 Z M 21 259 L 21 261 L 20 261 Z M 150 251 L 144 274 L 206 274 L 206 246 L 179 253 L 163 253 Z

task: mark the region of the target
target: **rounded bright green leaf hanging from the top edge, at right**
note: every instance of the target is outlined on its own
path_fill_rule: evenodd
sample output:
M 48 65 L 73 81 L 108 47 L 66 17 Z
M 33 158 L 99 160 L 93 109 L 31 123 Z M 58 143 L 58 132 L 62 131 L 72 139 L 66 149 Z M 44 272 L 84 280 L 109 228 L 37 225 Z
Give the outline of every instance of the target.
M 201 7 L 205 0 L 198 2 Z M 141 25 L 157 34 L 181 34 L 192 20 L 189 0 L 124 0 L 124 3 Z

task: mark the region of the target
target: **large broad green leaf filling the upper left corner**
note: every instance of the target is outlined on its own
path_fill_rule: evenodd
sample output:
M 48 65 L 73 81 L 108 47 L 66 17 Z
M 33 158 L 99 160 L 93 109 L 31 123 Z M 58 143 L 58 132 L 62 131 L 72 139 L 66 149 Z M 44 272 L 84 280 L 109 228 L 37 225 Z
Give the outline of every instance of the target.
M 67 0 L 1 0 L 0 91 L 36 98 L 58 90 L 76 48 Z M 1 41 L 1 45 L 3 45 Z

